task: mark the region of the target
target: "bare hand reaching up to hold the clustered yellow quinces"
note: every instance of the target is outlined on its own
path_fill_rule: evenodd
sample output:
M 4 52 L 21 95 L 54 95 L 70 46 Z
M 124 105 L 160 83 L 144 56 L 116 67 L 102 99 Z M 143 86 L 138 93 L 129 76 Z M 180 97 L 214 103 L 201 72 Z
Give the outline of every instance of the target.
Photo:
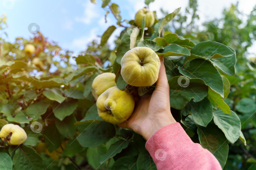
M 175 123 L 170 110 L 170 88 L 162 56 L 156 87 L 152 95 L 142 96 L 131 117 L 119 123 L 120 127 L 132 129 L 148 140 L 160 128 Z

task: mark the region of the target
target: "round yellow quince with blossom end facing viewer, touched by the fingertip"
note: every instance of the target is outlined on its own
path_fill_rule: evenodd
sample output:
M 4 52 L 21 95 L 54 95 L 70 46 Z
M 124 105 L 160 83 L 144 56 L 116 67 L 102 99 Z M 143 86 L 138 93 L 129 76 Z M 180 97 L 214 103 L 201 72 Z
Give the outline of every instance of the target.
M 143 65 L 140 63 L 142 60 Z M 121 59 L 121 75 L 132 86 L 153 85 L 158 79 L 159 69 L 160 59 L 148 47 L 132 48 Z

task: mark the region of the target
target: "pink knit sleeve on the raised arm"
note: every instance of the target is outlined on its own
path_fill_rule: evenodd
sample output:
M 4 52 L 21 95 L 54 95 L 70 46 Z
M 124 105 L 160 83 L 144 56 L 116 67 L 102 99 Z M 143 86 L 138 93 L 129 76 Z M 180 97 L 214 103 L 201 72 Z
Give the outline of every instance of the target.
M 194 143 L 179 122 L 162 127 L 154 133 L 147 141 L 146 149 L 158 170 L 222 169 L 215 156 L 200 144 Z

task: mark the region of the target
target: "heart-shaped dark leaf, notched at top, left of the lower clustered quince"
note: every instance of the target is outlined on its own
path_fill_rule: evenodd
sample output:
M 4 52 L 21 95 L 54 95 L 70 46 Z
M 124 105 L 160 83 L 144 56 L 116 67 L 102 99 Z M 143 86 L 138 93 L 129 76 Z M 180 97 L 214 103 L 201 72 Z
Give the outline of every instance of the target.
M 64 100 L 61 104 L 54 102 L 52 105 L 52 110 L 59 120 L 63 120 L 66 116 L 71 115 L 77 107 L 76 99 L 69 99 L 68 101 Z

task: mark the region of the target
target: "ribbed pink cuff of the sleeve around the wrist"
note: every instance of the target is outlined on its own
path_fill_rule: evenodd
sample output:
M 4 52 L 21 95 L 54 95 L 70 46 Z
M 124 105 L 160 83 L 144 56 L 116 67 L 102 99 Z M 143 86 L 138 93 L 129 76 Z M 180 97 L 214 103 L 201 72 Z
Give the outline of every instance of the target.
M 177 169 L 200 148 L 201 145 L 193 143 L 179 122 L 162 127 L 146 142 L 146 149 L 157 169 Z

